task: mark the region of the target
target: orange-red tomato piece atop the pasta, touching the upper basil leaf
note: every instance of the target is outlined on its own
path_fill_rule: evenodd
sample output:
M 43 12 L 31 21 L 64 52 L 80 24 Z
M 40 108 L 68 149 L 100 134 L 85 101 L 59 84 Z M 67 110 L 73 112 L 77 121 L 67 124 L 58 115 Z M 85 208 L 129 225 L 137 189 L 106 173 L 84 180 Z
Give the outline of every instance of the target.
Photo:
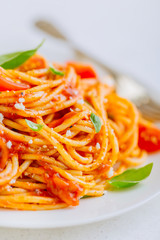
M 27 72 L 33 69 L 41 69 L 46 67 L 47 67 L 46 60 L 42 56 L 35 54 L 32 57 L 30 57 L 25 63 L 23 63 L 18 68 L 18 70 L 22 72 Z

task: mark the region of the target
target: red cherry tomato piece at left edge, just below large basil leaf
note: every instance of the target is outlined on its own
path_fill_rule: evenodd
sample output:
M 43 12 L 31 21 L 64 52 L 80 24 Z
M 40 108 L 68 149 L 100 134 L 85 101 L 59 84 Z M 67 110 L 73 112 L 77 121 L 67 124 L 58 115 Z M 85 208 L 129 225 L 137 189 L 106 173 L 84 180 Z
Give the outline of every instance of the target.
M 15 83 L 13 81 L 8 80 L 4 77 L 3 69 L 0 67 L 0 91 L 6 90 L 25 90 L 30 88 L 29 85 L 23 83 Z

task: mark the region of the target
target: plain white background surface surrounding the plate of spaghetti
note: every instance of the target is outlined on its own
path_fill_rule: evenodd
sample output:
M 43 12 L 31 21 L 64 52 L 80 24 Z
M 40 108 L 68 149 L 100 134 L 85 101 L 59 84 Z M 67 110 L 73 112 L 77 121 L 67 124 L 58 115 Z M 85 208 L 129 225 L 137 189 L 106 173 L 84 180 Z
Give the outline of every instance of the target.
M 159 13 L 159 0 L 0 0 L 0 52 L 19 50 L 15 41 L 21 48 L 32 46 L 33 38 L 39 43 L 44 35 L 33 23 L 45 18 L 56 22 L 79 47 L 160 93 Z M 27 46 L 21 41 L 24 37 Z M 0 229 L 0 239 L 158 240 L 159 202 L 157 197 L 123 216 L 82 227 Z

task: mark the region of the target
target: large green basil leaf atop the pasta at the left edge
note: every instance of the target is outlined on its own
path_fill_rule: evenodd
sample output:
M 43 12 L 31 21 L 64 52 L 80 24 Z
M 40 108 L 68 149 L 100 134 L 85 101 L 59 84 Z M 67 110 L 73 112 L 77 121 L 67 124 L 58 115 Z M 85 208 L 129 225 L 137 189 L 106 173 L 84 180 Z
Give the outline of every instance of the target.
M 26 60 L 28 60 L 37 52 L 43 43 L 44 40 L 35 49 L 32 50 L 0 55 L 0 66 L 5 69 L 14 69 L 22 65 Z

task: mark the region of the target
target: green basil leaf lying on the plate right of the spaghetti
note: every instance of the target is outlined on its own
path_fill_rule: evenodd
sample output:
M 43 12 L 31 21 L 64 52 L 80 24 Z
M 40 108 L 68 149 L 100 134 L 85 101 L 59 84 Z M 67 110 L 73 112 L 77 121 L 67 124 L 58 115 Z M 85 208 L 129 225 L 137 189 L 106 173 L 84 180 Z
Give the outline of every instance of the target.
M 147 178 L 152 170 L 153 163 L 137 169 L 128 169 L 122 174 L 108 180 L 108 183 L 115 188 L 127 188 L 136 185 Z

